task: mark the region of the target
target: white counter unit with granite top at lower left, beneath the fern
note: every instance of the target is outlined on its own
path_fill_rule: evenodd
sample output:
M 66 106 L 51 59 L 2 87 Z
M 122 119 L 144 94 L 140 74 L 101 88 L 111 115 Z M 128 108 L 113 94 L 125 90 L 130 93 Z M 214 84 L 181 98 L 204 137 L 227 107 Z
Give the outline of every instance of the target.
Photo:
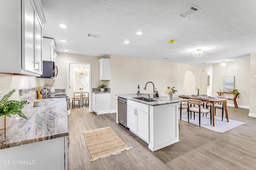
M 28 120 L 11 117 L 11 126 L 0 131 L 0 169 L 63 170 L 67 168 L 68 117 L 66 98 L 39 100 L 26 105 Z M 66 166 L 65 166 L 66 164 Z

